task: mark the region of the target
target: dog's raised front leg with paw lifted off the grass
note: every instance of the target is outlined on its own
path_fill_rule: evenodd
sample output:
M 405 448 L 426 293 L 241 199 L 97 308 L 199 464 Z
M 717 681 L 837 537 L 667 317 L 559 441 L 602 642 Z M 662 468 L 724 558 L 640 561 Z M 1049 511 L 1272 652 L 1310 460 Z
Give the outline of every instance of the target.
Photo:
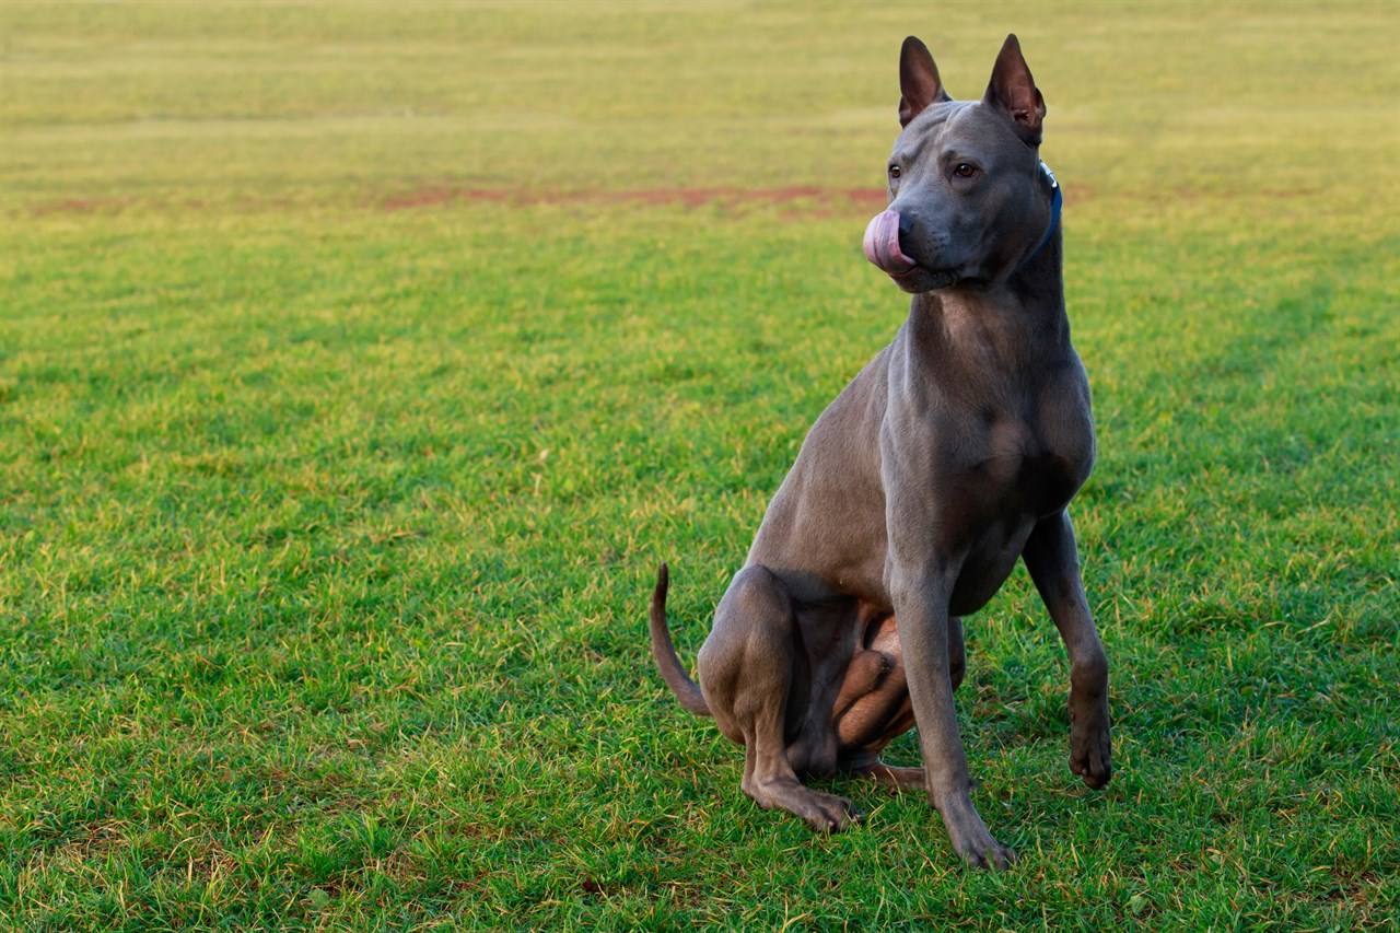
M 1070 516 L 1061 510 L 1036 523 L 1021 558 L 1070 653 L 1070 769 L 1103 787 L 1113 773 L 1109 660 L 1084 595 Z

